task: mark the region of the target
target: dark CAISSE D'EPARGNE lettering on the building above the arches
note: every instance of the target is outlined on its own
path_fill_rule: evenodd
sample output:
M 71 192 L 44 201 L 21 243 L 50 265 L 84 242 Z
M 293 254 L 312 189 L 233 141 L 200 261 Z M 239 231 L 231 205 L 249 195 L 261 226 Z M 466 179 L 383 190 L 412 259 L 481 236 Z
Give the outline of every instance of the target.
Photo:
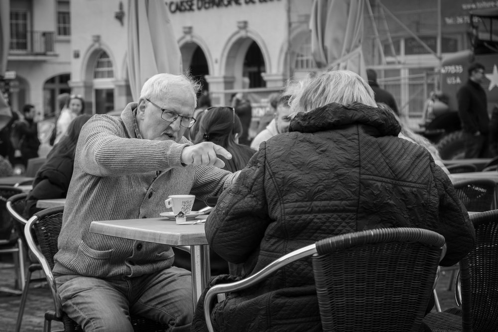
M 176 12 L 207 10 L 274 1 L 280 0 L 180 0 L 166 1 L 166 7 L 168 7 L 170 13 L 174 14 Z

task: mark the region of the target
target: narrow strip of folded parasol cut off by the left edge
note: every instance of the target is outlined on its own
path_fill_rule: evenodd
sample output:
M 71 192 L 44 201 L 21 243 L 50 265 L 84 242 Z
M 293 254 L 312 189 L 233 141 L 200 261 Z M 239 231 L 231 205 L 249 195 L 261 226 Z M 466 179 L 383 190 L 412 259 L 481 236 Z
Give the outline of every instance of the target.
M 7 69 L 7 56 L 10 48 L 10 1 L 0 1 L 0 75 L 5 74 Z M 0 93 L 0 129 L 3 128 L 12 117 L 10 106 Z

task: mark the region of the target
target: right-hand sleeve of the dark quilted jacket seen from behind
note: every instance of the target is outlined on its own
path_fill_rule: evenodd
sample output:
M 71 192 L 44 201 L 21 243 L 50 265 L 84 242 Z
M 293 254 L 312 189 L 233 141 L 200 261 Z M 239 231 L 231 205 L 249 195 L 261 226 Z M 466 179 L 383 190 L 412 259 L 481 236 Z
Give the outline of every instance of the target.
M 439 196 L 439 224 L 435 231 L 444 236 L 447 246 L 440 265 L 451 266 L 472 250 L 476 242 L 476 231 L 446 173 L 434 163 L 431 163 L 431 168 Z

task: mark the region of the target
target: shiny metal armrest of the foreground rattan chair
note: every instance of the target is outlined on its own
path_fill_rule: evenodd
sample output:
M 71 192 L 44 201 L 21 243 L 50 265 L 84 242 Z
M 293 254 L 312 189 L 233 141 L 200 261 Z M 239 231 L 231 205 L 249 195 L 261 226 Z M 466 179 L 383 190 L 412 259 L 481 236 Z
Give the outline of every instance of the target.
M 270 264 L 266 265 L 262 270 L 247 277 L 246 279 L 239 280 L 239 281 L 232 282 L 232 283 L 228 283 L 228 284 L 219 284 L 219 285 L 211 287 L 206 292 L 206 296 L 204 298 L 204 317 L 206 319 L 206 325 L 207 325 L 208 330 L 210 332 L 214 331 L 213 324 L 211 322 L 210 307 L 211 307 L 211 303 L 213 302 L 213 299 L 216 295 L 218 295 L 220 293 L 229 293 L 229 292 L 234 292 L 234 291 L 240 291 L 240 290 L 246 289 L 248 287 L 251 287 L 253 285 L 256 285 L 257 283 L 261 282 L 263 279 L 267 278 L 269 275 L 273 274 L 274 272 L 276 272 L 278 269 L 282 268 L 283 266 L 285 266 L 289 263 L 292 263 L 296 260 L 299 260 L 301 258 L 315 254 L 316 252 L 317 252 L 316 245 L 315 245 L 315 243 L 313 243 L 313 244 L 310 244 L 308 246 L 305 246 L 305 247 L 299 248 L 297 250 L 294 250 L 292 252 L 289 252 L 288 254 L 274 260 Z

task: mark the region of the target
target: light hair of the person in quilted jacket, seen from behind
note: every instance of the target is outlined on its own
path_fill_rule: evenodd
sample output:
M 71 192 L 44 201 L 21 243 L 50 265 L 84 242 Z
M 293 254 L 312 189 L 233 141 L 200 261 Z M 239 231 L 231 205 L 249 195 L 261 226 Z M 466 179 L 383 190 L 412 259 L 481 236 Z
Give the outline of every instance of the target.
M 376 107 L 372 88 L 360 75 L 349 70 L 335 70 L 315 77 L 308 75 L 297 84 L 289 84 L 291 117 L 330 103 L 349 105 L 355 102 Z

